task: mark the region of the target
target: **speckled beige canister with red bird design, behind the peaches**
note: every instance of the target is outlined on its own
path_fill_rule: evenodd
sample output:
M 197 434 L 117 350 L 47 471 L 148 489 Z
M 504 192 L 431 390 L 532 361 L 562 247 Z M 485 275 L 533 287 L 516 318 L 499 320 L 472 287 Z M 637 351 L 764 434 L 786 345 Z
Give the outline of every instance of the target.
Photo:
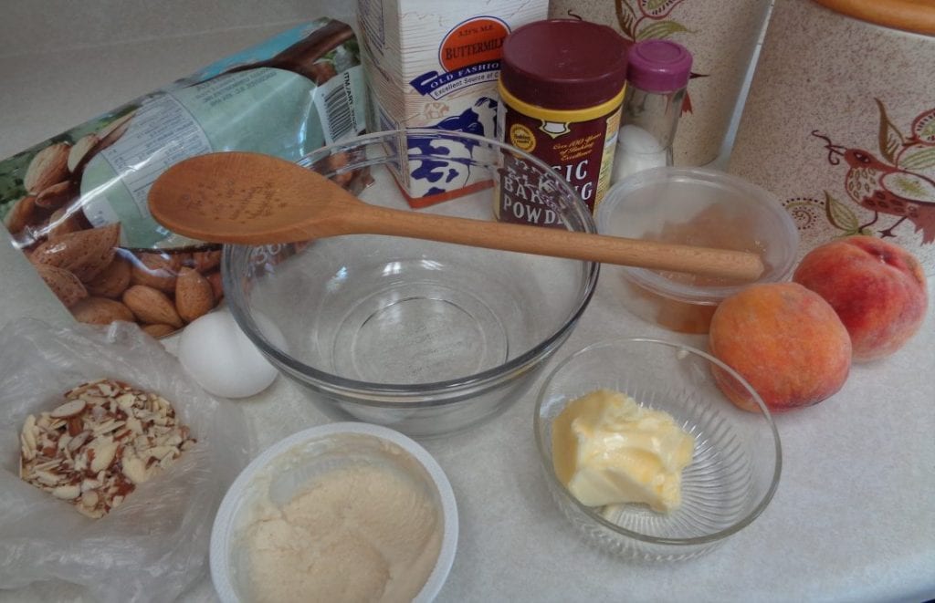
M 776 3 L 728 170 L 779 198 L 799 257 L 862 233 L 935 274 L 933 65 L 930 2 Z

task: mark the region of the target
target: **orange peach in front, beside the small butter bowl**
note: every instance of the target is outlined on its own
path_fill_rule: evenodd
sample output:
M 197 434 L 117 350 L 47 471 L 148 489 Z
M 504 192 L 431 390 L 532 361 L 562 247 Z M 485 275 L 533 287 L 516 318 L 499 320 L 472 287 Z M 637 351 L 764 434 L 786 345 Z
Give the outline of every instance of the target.
M 746 379 L 770 411 L 811 406 L 835 394 L 851 369 L 851 338 L 831 305 L 797 283 L 752 285 L 714 311 L 712 354 Z M 754 400 L 726 372 L 714 377 L 747 411 Z

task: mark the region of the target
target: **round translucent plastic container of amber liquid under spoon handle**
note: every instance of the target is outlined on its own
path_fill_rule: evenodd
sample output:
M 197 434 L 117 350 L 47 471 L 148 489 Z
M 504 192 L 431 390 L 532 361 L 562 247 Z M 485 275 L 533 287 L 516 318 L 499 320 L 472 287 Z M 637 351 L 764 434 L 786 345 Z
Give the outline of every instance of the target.
M 742 178 L 703 168 L 657 167 L 613 185 L 595 216 L 601 234 L 760 254 L 756 281 L 784 281 L 795 267 L 798 231 L 773 195 Z M 683 333 L 707 333 L 718 304 L 749 283 L 643 268 L 601 267 L 632 314 Z

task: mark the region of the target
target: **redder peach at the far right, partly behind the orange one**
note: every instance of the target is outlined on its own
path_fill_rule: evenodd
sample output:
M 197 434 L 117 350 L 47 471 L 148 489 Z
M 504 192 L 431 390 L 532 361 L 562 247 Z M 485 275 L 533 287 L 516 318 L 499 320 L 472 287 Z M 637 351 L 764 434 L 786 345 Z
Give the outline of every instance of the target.
M 815 247 L 792 280 L 831 304 L 851 335 L 858 362 L 897 351 L 926 316 L 922 266 L 909 251 L 875 237 L 856 235 Z

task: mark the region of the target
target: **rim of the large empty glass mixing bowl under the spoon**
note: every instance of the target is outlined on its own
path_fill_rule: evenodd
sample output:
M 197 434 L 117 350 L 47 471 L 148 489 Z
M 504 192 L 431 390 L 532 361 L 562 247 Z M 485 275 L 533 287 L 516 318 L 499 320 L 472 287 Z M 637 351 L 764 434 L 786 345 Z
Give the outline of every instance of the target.
M 573 189 L 561 175 L 554 172 L 550 165 L 519 148 L 484 136 L 426 128 L 387 130 L 367 133 L 349 140 L 321 147 L 309 153 L 309 155 L 306 155 L 301 160 L 297 161 L 297 163 L 303 166 L 309 166 L 315 161 L 320 161 L 330 156 L 332 153 L 353 148 L 370 147 L 375 143 L 396 140 L 398 144 L 400 136 L 409 135 L 468 139 L 475 141 L 479 146 L 484 145 L 509 151 L 511 154 L 539 168 L 540 173 L 554 175 L 555 181 L 564 189 L 570 201 L 574 203 L 572 209 L 577 217 L 581 219 L 583 231 L 591 233 L 597 232 L 595 218 L 591 211 L 588 210 L 587 205 L 583 202 L 581 195 Z M 419 153 L 418 156 L 420 158 L 435 157 L 435 155 L 424 153 Z M 447 156 L 439 156 L 439 159 L 450 158 Z M 367 165 L 385 164 L 387 162 L 389 161 L 367 161 Z M 347 169 L 350 168 L 342 166 L 338 168 L 335 173 L 340 174 Z M 485 371 L 475 372 L 455 379 L 416 385 L 379 384 L 348 379 L 330 372 L 321 371 L 292 358 L 277 345 L 266 339 L 262 330 L 259 329 L 253 319 L 252 312 L 249 309 L 249 304 L 246 302 L 243 291 L 240 287 L 236 287 L 238 277 L 230 272 L 230 266 L 233 265 L 235 259 L 241 255 L 248 254 L 252 248 L 257 246 L 263 245 L 223 245 L 221 271 L 224 297 L 227 299 L 228 308 L 234 316 L 235 321 L 237 321 L 237 325 L 267 358 L 272 358 L 274 364 L 279 365 L 280 369 L 285 368 L 287 372 L 292 373 L 304 384 L 313 384 L 326 392 L 352 397 L 352 399 L 342 399 L 344 401 L 376 408 L 414 409 L 438 407 L 460 400 L 467 400 L 477 396 L 480 392 L 495 388 L 503 382 L 509 382 L 511 377 L 517 373 L 530 370 L 530 368 L 540 360 L 548 358 L 568 337 L 568 334 L 581 318 L 584 310 L 590 304 L 594 296 L 594 292 L 597 288 L 597 277 L 600 271 L 600 264 L 598 262 L 583 262 L 585 265 L 584 287 L 583 290 L 580 291 L 574 310 L 561 326 L 554 329 L 553 332 L 540 341 L 539 344 L 535 344 L 526 350 L 524 354 Z M 311 382 L 311 384 L 309 384 L 309 382 Z

